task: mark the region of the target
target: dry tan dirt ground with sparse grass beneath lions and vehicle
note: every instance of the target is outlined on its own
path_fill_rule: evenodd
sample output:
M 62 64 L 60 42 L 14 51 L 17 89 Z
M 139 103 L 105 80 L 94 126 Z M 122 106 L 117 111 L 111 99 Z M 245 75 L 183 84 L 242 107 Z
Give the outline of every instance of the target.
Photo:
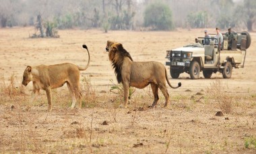
M 109 92 L 117 80 L 107 40 L 123 44 L 134 61 L 165 64 L 166 50 L 192 43 L 203 30 L 72 29 L 59 30 L 60 38 L 30 39 L 33 27 L 0 29 L 0 153 L 256 153 L 250 142 L 256 142 L 256 33 L 250 33 L 245 68 L 233 69 L 230 79 L 220 73 L 211 79 L 200 74 L 199 80 L 168 74 L 172 85 L 182 83 L 168 88 L 168 108 L 162 93 L 156 108 L 147 107 L 153 102 L 150 86 L 136 89 L 127 109 L 118 107 L 121 96 Z M 80 73 L 83 108 L 71 110 L 67 86 L 54 90 L 52 112 L 44 91 L 28 104 L 32 83 L 21 86 L 26 66 L 86 65 L 82 44 L 91 55 L 90 67 Z M 217 117 L 218 111 L 224 116 Z

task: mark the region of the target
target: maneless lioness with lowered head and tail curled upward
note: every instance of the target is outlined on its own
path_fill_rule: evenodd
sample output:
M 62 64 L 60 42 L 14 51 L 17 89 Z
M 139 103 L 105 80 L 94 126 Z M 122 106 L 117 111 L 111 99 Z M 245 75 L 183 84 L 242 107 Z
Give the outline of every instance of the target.
M 39 65 L 39 66 L 27 66 L 23 74 L 22 84 L 27 86 L 30 81 L 33 82 L 32 99 L 34 101 L 39 93 L 39 90 L 45 90 L 48 99 L 48 110 L 52 110 L 52 94 L 51 89 L 59 88 L 67 83 L 69 92 L 72 96 L 73 108 L 76 103 L 76 99 L 79 100 L 79 107 L 81 107 L 81 97 L 79 87 L 79 70 L 86 70 L 90 64 L 90 53 L 86 45 L 83 45 L 88 52 L 88 63 L 86 67 L 76 66 L 71 63 L 63 63 L 56 65 Z

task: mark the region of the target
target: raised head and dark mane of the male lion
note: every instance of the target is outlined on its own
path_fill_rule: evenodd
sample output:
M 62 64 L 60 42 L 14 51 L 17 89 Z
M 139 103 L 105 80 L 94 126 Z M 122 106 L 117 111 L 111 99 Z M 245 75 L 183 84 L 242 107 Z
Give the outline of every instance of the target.
M 122 44 L 117 42 L 107 41 L 106 42 L 106 52 L 108 52 L 108 58 L 112 62 L 113 68 L 115 68 L 115 74 L 117 75 L 117 81 L 120 83 L 122 82 L 121 70 L 123 65 L 123 60 L 125 58 L 131 58 L 129 52 L 123 48 Z

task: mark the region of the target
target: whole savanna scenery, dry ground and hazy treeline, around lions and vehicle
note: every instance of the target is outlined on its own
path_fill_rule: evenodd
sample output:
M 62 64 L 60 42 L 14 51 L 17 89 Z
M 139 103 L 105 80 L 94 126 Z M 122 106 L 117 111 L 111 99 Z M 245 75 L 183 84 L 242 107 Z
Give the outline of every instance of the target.
M 256 153 L 256 1 L 2 0 L 0 5 L 0 153 Z M 193 43 L 207 29 L 249 31 L 245 68 L 232 78 L 170 78 L 170 105 L 150 86 L 131 88 L 128 108 L 105 52 L 123 44 L 135 61 L 165 64 L 166 50 Z M 29 103 L 26 66 L 71 62 L 80 72 L 82 108 L 71 110 L 64 85 L 47 111 L 43 90 Z M 166 69 L 170 68 L 166 66 Z M 216 116 L 216 113 L 222 113 Z

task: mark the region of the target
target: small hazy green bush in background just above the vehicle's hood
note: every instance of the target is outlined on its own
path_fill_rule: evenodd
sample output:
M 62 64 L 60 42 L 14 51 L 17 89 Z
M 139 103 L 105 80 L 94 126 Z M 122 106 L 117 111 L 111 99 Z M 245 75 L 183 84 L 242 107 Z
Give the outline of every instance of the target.
M 207 26 L 208 14 L 207 11 L 198 11 L 195 13 L 189 13 L 187 15 L 187 22 L 192 28 L 204 28 Z

